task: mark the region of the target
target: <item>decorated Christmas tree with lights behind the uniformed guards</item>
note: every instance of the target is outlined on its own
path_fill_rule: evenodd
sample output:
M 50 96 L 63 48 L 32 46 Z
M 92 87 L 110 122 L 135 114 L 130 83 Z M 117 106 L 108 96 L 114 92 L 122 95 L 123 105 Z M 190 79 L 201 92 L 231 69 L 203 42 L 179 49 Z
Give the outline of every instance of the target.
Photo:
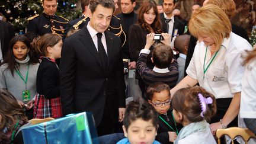
M 76 10 L 78 0 L 57 1 L 57 15 L 73 20 L 78 18 L 82 11 Z M 43 7 L 41 0 L 7 0 L 0 1 L 0 12 L 6 18 L 7 22 L 14 25 L 16 33 L 23 34 L 28 25 L 27 18 L 41 14 Z

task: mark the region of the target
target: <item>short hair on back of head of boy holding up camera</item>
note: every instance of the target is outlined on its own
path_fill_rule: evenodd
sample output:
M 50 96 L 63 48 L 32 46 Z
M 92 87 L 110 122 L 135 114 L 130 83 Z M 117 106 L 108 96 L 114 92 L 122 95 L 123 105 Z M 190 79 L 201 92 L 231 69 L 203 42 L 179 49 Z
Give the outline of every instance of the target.
M 171 65 L 173 55 L 171 46 L 159 43 L 152 52 L 153 63 L 157 68 L 168 68 Z

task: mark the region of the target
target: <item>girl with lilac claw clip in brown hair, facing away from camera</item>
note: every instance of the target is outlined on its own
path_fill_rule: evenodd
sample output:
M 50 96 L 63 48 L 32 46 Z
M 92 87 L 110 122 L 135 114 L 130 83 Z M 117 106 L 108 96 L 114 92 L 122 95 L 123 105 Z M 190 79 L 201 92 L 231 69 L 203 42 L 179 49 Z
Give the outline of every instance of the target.
M 182 88 L 175 92 L 172 107 L 175 121 L 184 126 L 175 144 L 216 143 L 207 123 L 216 113 L 214 95 L 201 87 Z

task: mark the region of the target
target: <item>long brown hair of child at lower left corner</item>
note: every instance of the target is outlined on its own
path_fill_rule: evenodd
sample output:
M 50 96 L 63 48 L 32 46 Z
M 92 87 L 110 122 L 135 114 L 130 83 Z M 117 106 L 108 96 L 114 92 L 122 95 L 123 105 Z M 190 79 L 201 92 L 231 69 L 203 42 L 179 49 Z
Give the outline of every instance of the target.
M 17 120 L 27 121 L 23 108 L 18 104 L 16 98 L 7 90 L 0 88 L 0 139 L 4 138 L 4 129 L 7 127 L 9 130 L 14 129 Z

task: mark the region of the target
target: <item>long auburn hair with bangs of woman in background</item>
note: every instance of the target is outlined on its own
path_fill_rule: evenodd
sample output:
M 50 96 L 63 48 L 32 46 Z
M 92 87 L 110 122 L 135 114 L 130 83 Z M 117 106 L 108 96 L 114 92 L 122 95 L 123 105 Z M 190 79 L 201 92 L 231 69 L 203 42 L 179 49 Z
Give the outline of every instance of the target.
M 153 11 L 156 14 L 155 20 L 151 25 L 147 24 L 144 19 L 144 14 L 153 8 Z M 142 26 L 143 29 L 151 32 L 152 30 L 155 33 L 162 33 L 162 24 L 158 14 L 158 8 L 156 6 L 156 2 L 152 0 L 146 0 L 142 3 L 138 10 L 138 24 Z

